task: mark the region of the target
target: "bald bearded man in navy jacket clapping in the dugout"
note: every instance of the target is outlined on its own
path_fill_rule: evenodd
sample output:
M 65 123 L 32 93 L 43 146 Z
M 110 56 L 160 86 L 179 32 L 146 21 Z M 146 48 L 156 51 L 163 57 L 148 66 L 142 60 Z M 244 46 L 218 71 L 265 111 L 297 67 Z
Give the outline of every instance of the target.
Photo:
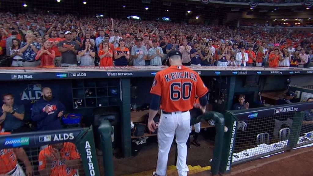
M 37 122 L 37 130 L 57 130 L 61 129 L 60 118 L 65 114 L 65 107 L 52 96 L 49 87 L 42 89 L 42 98 L 34 103 L 31 119 Z

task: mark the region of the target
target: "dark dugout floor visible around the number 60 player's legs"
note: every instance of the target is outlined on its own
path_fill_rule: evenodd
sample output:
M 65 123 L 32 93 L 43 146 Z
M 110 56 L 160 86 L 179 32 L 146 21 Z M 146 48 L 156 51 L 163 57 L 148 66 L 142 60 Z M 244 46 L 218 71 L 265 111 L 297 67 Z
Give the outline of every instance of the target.
M 209 166 L 209 160 L 213 156 L 214 142 L 204 139 L 201 135 L 199 135 L 198 141 L 201 144 L 200 147 L 192 145 L 188 150 L 187 165 Z M 175 147 L 176 145 L 173 144 L 168 158 L 168 166 L 174 165 Z M 157 143 L 154 142 L 144 146 L 136 157 L 114 158 L 114 175 L 119 176 L 154 169 L 156 168 L 156 159 Z M 102 158 L 99 158 L 99 165 L 101 166 L 102 163 Z M 100 173 L 103 173 L 103 168 L 100 168 Z

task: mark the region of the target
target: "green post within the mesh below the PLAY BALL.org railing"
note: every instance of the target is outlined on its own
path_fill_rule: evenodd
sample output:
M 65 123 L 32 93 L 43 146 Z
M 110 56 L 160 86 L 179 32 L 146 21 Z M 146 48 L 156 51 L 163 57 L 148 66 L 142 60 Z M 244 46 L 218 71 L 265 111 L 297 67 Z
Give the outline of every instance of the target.
M 295 118 L 299 117 L 300 118 Z M 292 126 L 290 127 L 290 134 L 288 138 L 288 149 L 291 150 L 292 148 L 295 148 L 298 143 L 298 139 L 300 137 L 300 131 L 302 127 L 303 117 L 305 116 L 305 113 L 303 111 L 301 112 L 295 112 Z

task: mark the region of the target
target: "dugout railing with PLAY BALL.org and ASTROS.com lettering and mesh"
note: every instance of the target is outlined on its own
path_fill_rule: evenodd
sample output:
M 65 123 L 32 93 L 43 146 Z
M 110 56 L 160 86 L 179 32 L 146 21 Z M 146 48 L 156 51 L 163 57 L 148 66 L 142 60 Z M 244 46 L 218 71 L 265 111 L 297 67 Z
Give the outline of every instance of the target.
M 226 111 L 219 172 L 313 143 L 313 102 Z

